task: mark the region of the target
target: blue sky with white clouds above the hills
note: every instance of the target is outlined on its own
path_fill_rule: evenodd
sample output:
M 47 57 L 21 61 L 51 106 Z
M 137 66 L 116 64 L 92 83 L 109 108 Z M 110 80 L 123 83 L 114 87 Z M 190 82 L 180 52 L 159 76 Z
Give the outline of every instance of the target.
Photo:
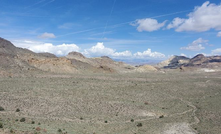
M 221 1 L 0 0 L 0 37 L 57 56 L 221 55 Z

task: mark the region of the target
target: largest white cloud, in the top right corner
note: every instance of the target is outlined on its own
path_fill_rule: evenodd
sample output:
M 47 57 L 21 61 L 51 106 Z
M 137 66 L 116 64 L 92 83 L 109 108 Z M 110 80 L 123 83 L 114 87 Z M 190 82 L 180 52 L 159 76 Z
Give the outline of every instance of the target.
M 204 32 L 210 29 L 221 30 L 221 5 L 206 1 L 188 14 L 187 19 L 175 18 L 167 28 L 175 28 L 177 32 Z

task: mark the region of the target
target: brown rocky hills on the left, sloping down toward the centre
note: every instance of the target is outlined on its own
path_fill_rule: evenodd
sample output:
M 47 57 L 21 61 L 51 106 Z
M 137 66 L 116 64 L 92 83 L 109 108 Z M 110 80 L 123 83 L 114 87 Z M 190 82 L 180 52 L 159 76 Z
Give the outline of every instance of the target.
M 0 75 L 24 72 L 54 73 L 127 73 L 152 71 L 154 67 L 137 67 L 116 62 L 107 56 L 87 58 L 81 53 L 70 52 L 66 57 L 50 53 L 34 53 L 15 47 L 10 41 L 0 38 Z M 154 68 L 154 69 L 153 69 Z

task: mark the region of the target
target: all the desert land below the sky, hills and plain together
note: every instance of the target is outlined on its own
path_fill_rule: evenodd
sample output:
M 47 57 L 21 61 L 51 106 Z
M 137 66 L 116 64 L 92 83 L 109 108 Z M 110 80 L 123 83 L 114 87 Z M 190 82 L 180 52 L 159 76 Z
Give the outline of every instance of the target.
M 132 66 L 0 38 L 2 134 L 219 134 L 221 56 Z

